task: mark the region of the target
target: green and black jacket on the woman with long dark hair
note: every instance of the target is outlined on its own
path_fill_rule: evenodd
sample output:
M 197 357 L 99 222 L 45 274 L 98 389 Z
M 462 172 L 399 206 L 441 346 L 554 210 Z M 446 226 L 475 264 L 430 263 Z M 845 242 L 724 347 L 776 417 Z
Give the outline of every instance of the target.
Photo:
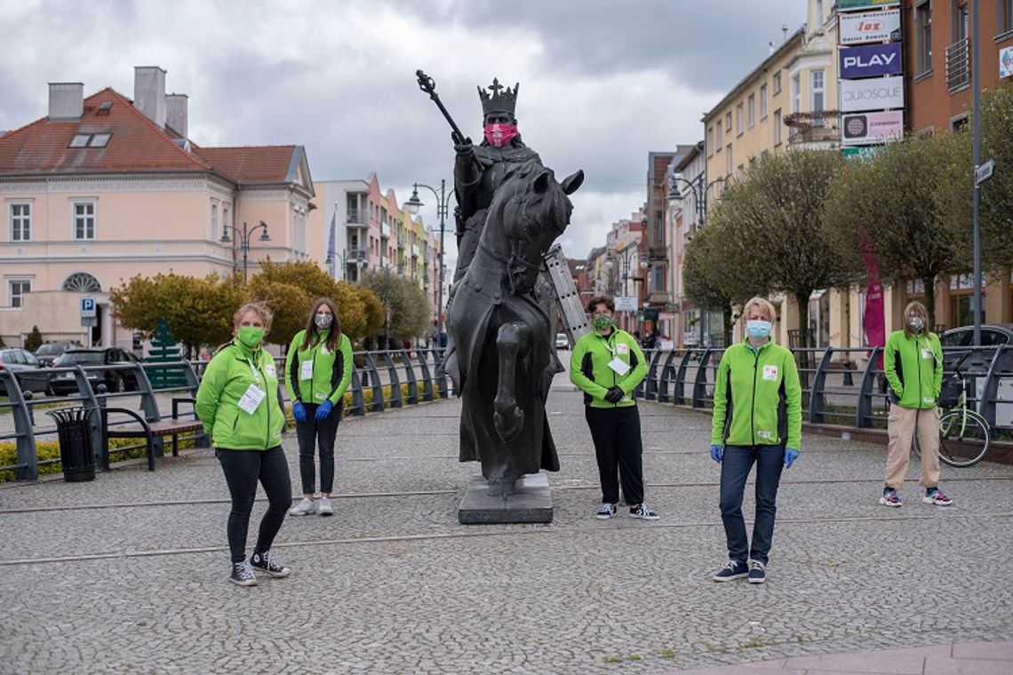
M 341 397 L 352 384 L 352 342 L 341 333 L 337 353 L 332 353 L 326 345 L 330 329 L 320 333 L 320 341 L 308 349 L 300 349 L 306 331 L 296 333 L 285 357 L 285 384 L 293 401 L 319 405 L 329 400 L 340 410 Z

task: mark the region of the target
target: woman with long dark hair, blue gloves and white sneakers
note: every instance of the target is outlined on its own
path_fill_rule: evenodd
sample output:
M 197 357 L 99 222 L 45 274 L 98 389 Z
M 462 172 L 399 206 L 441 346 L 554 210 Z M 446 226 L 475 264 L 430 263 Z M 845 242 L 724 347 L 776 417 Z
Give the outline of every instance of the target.
M 341 421 L 344 392 L 352 383 L 352 342 L 341 333 L 337 306 L 329 298 L 313 304 L 304 330 L 296 333 L 285 361 L 285 381 L 292 397 L 299 439 L 299 475 L 303 499 L 289 511 L 294 516 L 334 513 L 334 439 Z M 315 447 L 320 447 L 320 500 L 316 491 Z

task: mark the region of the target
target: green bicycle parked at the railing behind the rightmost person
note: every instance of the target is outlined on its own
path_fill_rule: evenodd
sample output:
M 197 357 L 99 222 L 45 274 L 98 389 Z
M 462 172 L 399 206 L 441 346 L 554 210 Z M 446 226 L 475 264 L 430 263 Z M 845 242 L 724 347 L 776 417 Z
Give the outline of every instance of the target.
M 992 429 L 988 420 L 967 407 L 967 378 L 960 364 L 970 355 L 965 353 L 953 365 L 953 374 L 943 377 L 937 405 L 939 416 L 939 459 L 948 467 L 973 467 L 985 458 L 992 445 Z M 915 452 L 918 434 L 915 434 Z

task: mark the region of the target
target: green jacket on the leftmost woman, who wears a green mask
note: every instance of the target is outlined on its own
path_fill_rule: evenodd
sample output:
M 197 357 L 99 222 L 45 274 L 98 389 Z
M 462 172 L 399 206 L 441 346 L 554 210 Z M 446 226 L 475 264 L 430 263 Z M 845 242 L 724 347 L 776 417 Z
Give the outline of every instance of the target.
M 239 405 L 248 391 L 263 394 L 251 412 Z M 282 444 L 285 413 L 278 402 L 278 373 L 263 349 L 250 351 L 234 340 L 215 354 L 201 378 L 196 408 L 215 447 L 266 450 Z

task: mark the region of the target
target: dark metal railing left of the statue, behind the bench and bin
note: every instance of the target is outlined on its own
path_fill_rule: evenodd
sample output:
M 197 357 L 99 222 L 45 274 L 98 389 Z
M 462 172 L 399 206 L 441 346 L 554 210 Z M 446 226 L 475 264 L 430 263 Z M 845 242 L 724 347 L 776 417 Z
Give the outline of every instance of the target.
M 354 352 L 355 367 L 352 384 L 348 387 L 350 397 L 347 405 L 342 406 L 342 413 L 365 415 L 367 412 L 379 412 L 388 408 L 401 408 L 437 398 L 448 398 L 452 392 L 449 378 L 443 371 L 442 359 L 444 349 L 435 347 L 428 349 L 397 349 L 390 351 L 359 351 Z M 277 357 L 276 367 L 279 372 L 279 401 L 288 415 L 291 397 L 285 386 L 285 357 Z M 84 407 L 89 409 L 104 408 L 106 402 L 114 399 L 134 399 L 129 406 L 137 406 L 141 416 L 147 422 L 158 422 L 172 414 L 162 412 L 160 404 L 169 407 L 170 402 L 164 395 L 184 394 L 196 398 L 200 386 L 201 374 L 208 361 L 170 361 L 170 362 L 135 362 L 123 364 L 78 365 L 73 367 L 51 367 L 33 370 L 35 374 L 48 374 L 51 382 L 61 377 L 60 382 L 69 382 L 66 375 L 74 381 L 77 393 L 71 396 L 49 397 L 36 400 L 31 392 L 24 392 L 14 373 L 0 369 L 0 383 L 6 390 L 7 401 L 0 400 L 0 441 L 14 441 L 15 461 L 0 466 L 0 471 L 13 471 L 18 481 L 33 481 L 38 478 L 38 467 L 48 463 L 58 463 L 59 458 L 38 459 L 36 443 L 40 438 L 55 438 L 57 427 L 40 424 L 46 420 L 45 415 L 36 415 L 36 409 L 54 406 Z M 182 374 L 182 385 L 175 387 L 153 387 L 153 377 L 149 373 L 156 371 L 164 374 L 166 370 L 179 370 Z M 124 373 L 134 391 L 107 392 L 101 382 L 102 373 Z M 99 375 L 99 376 L 96 376 Z M 91 375 L 91 376 L 89 376 Z M 158 381 L 159 378 L 154 378 Z M 171 378 L 163 378 L 168 381 Z M 180 379 L 178 376 L 176 379 Z M 119 382 L 118 377 L 115 382 Z M 140 399 L 137 401 L 137 399 Z M 9 411 L 9 413 L 8 413 Z M 172 411 L 174 412 L 174 411 Z M 187 413 L 189 414 L 189 413 Z M 9 415 L 9 416 L 8 416 Z M 197 417 L 196 413 L 192 413 Z M 112 417 L 110 415 L 110 417 Z M 123 420 L 115 419 L 114 422 Z M 96 466 L 100 463 L 102 450 L 101 416 L 91 416 L 91 445 L 95 454 Z M 139 434 L 139 437 L 142 434 Z M 194 438 L 199 442 L 204 439 L 203 433 L 196 433 L 183 438 Z M 124 452 L 143 447 L 144 443 L 118 447 L 116 452 Z M 160 436 L 153 439 L 155 456 L 164 454 L 163 441 Z

